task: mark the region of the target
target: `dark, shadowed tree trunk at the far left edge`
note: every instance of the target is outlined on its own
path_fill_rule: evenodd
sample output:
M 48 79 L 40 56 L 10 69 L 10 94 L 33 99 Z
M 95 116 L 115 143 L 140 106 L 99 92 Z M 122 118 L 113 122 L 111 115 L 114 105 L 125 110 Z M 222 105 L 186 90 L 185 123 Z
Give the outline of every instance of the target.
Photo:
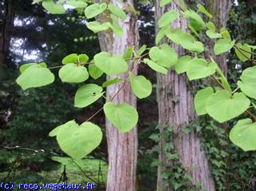
M 10 47 L 10 32 L 14 25 L 14 2 L 5 0 L 1 10 L 2 19 L 0 20 L 0 65 L 6 63 Z

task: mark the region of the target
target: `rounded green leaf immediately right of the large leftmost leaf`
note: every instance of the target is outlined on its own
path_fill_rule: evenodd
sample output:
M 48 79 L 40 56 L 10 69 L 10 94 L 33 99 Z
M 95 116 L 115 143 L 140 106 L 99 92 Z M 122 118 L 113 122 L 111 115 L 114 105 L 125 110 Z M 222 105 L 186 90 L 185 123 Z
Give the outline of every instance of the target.
M 80 83 L 85 82 L 89 78 L 86 67 L 76 64 L 66 64 L 58 71 L 58 76 L 62 82 Z

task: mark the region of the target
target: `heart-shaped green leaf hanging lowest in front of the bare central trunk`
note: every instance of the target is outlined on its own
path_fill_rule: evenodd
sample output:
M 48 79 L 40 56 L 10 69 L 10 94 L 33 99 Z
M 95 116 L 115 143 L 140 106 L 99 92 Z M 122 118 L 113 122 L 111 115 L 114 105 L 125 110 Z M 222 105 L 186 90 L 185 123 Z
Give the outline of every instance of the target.
M 107 119 L 122 133 L 133 129 L 138 122 L 137 110 L 126 102 L 119 105 L 107 102 L 103 109 Z

